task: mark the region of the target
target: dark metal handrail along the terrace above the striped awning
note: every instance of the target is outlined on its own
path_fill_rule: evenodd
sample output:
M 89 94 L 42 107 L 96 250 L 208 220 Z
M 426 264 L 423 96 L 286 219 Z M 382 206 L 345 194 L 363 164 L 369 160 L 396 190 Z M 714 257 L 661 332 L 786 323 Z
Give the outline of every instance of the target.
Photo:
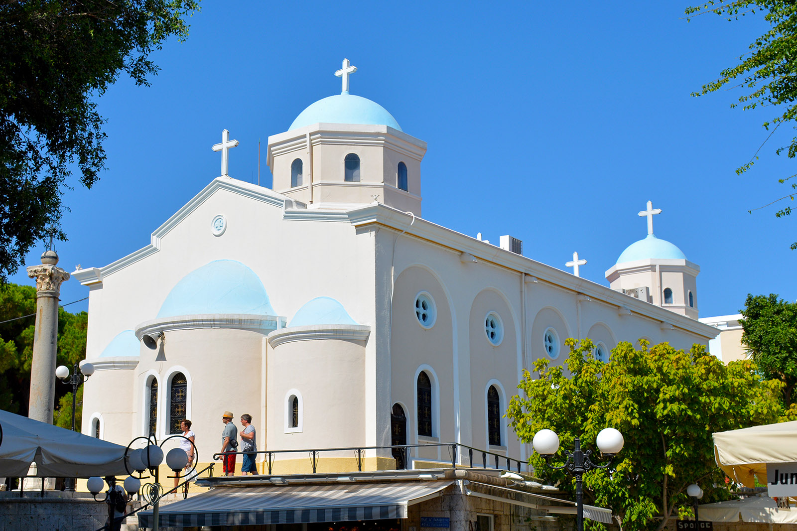
M 243 455 L 243 454 L 264 454 L 265 455 L 265 464 L 269 469 L 269 475 L 273 474 L 273 466 L 274 466 L 274 457 L 277 454 L 300 454 L 300 453 L 307 453 L 310 458 L 310 466 L 312 467 L 312 473 L 316 474 L 316 469 L 318 466 L 318 460 L 320 458 L 320 454 L 323 452 L 340 452 L 340 451 L 354 451 L 355 452 L 355 459 L 357 461 L 357 471 L 363 471 L 363 454 L 365 450 L 394 450 L 398 449 L 402 452 L 403 461 L 407 462 L 407 456 L 410 453 L 410 448 L 426 448 L 426 447 L 441 447 L 446 446 L 449 449 L 449 454 L 451 457 L 451 466 L 457 466 L 457 448 L 462 448 L 464 450 L 468 450 L 468 458 L 469 458 L 469 466 L 473 468 L 473 454 L 474 452 L 481 454 L 481 467 L 487 468 L 487 461 L 488 456 L 494 459 L 495 468 L 500 468 L 501 461 L 506 462 L 506 470 L 512 470 L 512 464 L 516 465 L 516 470 L 520 472 L 520 466 L 528 465 L 528 462 L 520 461 L 520 459 L 509 458 L 505 455 L 496 454 L 495 452 L 491 452 L 489 450 L 481 450 L 480 448 L 475 448 L 473 446 L 467 446 L 461 443 L 420 443 L 420 444 L 400 444 L 400 445 L 390 445 L 390 446 L 344 446 L 338 448 L 308 448 L 304 450 L 256 450 L 256 451 L 226 451 L 226 452 L 218 452 L 213 454 L 214 461 L 218 461 L 224 455 Z

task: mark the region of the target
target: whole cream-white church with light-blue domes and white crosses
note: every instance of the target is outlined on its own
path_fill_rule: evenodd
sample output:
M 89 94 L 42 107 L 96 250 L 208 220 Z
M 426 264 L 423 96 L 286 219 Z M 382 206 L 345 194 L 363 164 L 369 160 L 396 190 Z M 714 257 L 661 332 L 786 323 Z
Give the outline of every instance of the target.
M 534 360 L 563 363 L 565 339 L 589 337 L 606 359 L 621 340 L 689 348 L 717 335 L 697 320 L 699 267 L 654 236 L 650 203 L 648 235 L 608 269 L 611 287 L 580 278 L 577 257 L 564 272 L 508 235 L 496 246 L 426 221 L 426 142 L 350 94 L 352 69 L 340 94 L 269 137 L 273 189 L 227 175 L 238 143 L 225 131 L 222 175 L 150 245 L 72 273 L 89 290 L 96 370 L 85 434 L 161 440 L 188 418 L 207 463 L 232 411 L 236 425 L 252 415 L 258 450 L 461 443 L 523 460 L 508 399 Z M 319 471 L 354 462 L 329 455 Z M 365 456 L 369 470 L 397 466 L 389 449 Z M 409 461 L 450 455 L 428 446 Z M 277 454 L 274 466 L 309 461 Z

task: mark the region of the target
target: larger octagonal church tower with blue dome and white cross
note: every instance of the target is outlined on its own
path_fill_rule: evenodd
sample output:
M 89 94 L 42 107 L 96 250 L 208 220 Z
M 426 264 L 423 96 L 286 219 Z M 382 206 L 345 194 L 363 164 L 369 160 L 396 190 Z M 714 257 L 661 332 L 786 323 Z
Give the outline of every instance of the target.
M 407 135 L 385 108 L 348 91 L 356 71 L 344 59 L 343 90 L 305 108 L 287 132 L 269 136 L 273 189 L 308 208 L 386 204 L 421 216 L 426 142 Z

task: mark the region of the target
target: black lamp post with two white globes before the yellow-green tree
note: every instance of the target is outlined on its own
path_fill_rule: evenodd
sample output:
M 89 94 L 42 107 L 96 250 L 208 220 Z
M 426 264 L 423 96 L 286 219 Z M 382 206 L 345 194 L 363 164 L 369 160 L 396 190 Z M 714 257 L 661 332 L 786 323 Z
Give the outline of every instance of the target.
M 562 466 L 552 466 L 551 458 L 559 450 L 559 435 L 552 430 L 540 430 L 534 435 L 532 445 L 538 454 L 545 458 L 545 464 L 552 470 L 567 470 L 575 475 L 575 523 L 577 531 L 584 531 L 584 503 L 582 478 L 584 472 L 593 468 L 607 468 L 611 464 L 611 458 L 622 450 L 622 434 L 614 428 L 603 428 L 595 440 L 599 450 L 606 454 L 609 461 L 603 465 L 591 462 L 592 450 L 581 450 L 581 440 L 576 437 L 573 451 L 566 452 L 567 460 Z

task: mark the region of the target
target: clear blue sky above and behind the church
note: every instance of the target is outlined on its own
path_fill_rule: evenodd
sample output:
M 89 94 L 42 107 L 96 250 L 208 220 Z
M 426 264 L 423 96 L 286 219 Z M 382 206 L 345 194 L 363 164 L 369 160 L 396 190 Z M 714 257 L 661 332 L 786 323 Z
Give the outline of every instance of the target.
M 766 138 L 764 112 L 730 104 L 737 90 L 690 92 L 735 64 L 766 26 L 760 15 L 686 22 L 680 2 L 203 2 L 190 37 L 169 41 L 149 88 L 127 77 L 97 101 L 108 170 L 92 190 L 66 191 L 69 271 L 104 266 L 150 234 L 218 176 L 210 150 L 222 128 L 240 141 L 230 175 L 261 184 L 269 135 L 308 104 L 340 92 L 382 104 L 426 140 L 423 217 L 498 242 L 559 269 L 573 251 L 581 276 L 604 273 L 646 236 L 646 201 L 659 238 L 701 267 L 701 317 L 736 313 L 747 293 L 797 299 L 797 218 L 770 207 L 795 161 L 771 140 L 747 175 L 734 169 Z M 38 263 L 43 247 L 29 255 Z M 32 284 L 24 269 L 10 278 Z M 141 279 L 145 282 L 146 279 Z M 263 279 L 268 289 L 269 279 Z M 88 296 L 68 281 L 61 300 Z M 69 306 L 86 309 L 86 302 Z

